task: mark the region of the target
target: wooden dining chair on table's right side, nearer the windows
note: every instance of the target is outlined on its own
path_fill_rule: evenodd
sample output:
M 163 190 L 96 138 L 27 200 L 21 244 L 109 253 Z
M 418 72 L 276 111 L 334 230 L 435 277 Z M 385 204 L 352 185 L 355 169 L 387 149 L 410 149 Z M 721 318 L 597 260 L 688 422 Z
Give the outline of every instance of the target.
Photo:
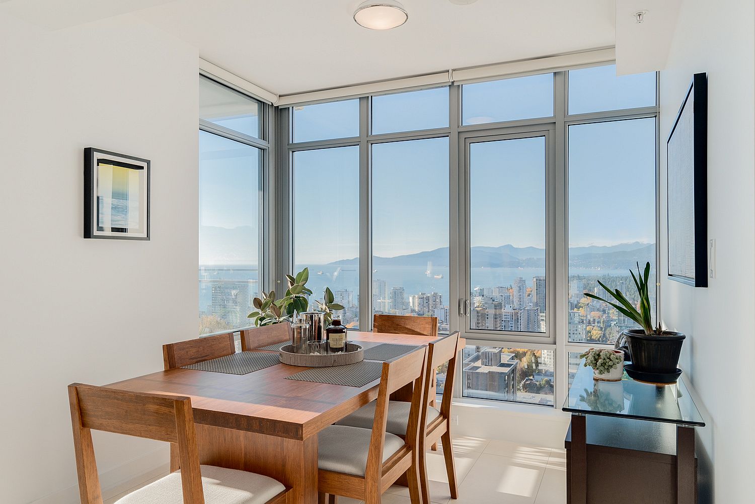
M 456 371 L 456 359 L 461 348 L 459 346 L 459 333 L 449 334 L 447 337 L 436 343 L 430 343 L 427 350 L 427 369 L 425 370 L 425 381 L 423 384 L 424 395 L 430 394 L 433 390 L 434 383 L 433 370 L 436 370 L 443 364 L 448 364 L 448 370 L 445 375 L 443 385 L 443 395 L 440 409 L 427 404 L 421 411 L 421 435 L 419 451 L 420 458 L 420 481 L 422 497 L 424 502 L 430 502 L 430 490 L 427 481 L 427 461 L 426 447 L 436 444 L 440 440 L 443 444 L 443 458 L 445 459 L 445 472 L 448 475 L 448 487 L 451 490 L 451 498 L 458 498 L 458 482 L 456 479 L 456 468 L 454 463 L 454 448 L 451 441 L 451 402 L 454 395 L 454 376 Z M 386 431 L 390 434 L 404 437 L 407 432 L 409 422 L 409 405 L 405 401 L 390 401 L 388 405 Z M 346 416 L 337 422 L 337 425 L 346 425 L 353 427 L 362 427 L 371 425 L 374 421 L 376 404 L 371 402 L 365 407 L 356 410 L 354 413 Z

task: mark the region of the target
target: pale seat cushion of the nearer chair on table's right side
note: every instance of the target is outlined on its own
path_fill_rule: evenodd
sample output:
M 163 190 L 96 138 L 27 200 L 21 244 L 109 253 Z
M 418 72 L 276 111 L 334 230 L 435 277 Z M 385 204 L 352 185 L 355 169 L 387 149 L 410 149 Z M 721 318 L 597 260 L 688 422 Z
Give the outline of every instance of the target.
M 322 429 L 317 439 L 319 469 L 364 476 L 371 429 L 351 426 L 330 426 Z M 404 446 L 404 440 L 387 432 L 383 445 L 383 462 Z

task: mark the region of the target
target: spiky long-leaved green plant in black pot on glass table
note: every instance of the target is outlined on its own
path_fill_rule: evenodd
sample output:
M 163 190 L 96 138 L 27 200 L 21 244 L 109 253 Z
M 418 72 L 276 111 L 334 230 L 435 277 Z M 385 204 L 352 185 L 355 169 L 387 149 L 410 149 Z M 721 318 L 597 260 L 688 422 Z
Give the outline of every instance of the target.
M 604 303 L 609 303 L 625 317 L 630 318 L 640 328 L 627 329 L 621 333 L 620 337 L 627 340 L 633 370 L 641 373 L 652 374 L 675 374 L 679 364 L 679 355 L 682 352 L 682 343 L 685 339 L 683 333 L 677 333 L 671 330 L 664 330 L 659 323 L 653 326 L 652 308 L 650 305 L 649 278 L 650 263 L 645 265 L 645 271 L 640 273 L 639 263 L 637 263 L 637 275 L 630 270 L 634 285 L 639 294 L 639 303 L 634 306 L 627 300 L 627 297 L 618 289 L 611 289 L 606 284 L 598 281 L 600 287 L 606 289 L 611 294 L 616 303 L 604 300 L 592 293 L 584 293 L 585 296 Z M 629 369 L 627 367 L 627 369 Z M 674 378 L 674 381 L 676 379 Z

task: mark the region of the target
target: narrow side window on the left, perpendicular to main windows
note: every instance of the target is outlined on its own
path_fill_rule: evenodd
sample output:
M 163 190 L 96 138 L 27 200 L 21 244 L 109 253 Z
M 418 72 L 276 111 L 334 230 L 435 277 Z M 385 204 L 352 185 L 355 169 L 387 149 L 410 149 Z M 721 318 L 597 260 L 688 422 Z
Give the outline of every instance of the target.
M 199 333 L 249 325 L 260 292 L 267 105 L 199 77 Z

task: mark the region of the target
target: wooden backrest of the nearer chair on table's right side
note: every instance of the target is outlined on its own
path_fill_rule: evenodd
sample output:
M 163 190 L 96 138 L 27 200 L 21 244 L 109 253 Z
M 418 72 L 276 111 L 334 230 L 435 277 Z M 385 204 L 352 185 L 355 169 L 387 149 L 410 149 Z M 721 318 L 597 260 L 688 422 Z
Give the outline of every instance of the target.
M 367 467 L 365 475 L 382 474 L 383 445 L 385 442 L 385 429 L 388 420 L 388 404 L 390 395 L 402 387 L 413 384 L 411 395 L 411 407 L 409 408 L 409 421 L 406 429 L 406 444 L 411 450 L 418 450 L 420 431 L 419 423 L 423 402 L 423 383 L 425 367 L 427 365 L 427 346 L 383 363 L 380 388 L 377 392 L 375 404 L 374 423 L 372 424 L 372 437 L 367 455 Z

